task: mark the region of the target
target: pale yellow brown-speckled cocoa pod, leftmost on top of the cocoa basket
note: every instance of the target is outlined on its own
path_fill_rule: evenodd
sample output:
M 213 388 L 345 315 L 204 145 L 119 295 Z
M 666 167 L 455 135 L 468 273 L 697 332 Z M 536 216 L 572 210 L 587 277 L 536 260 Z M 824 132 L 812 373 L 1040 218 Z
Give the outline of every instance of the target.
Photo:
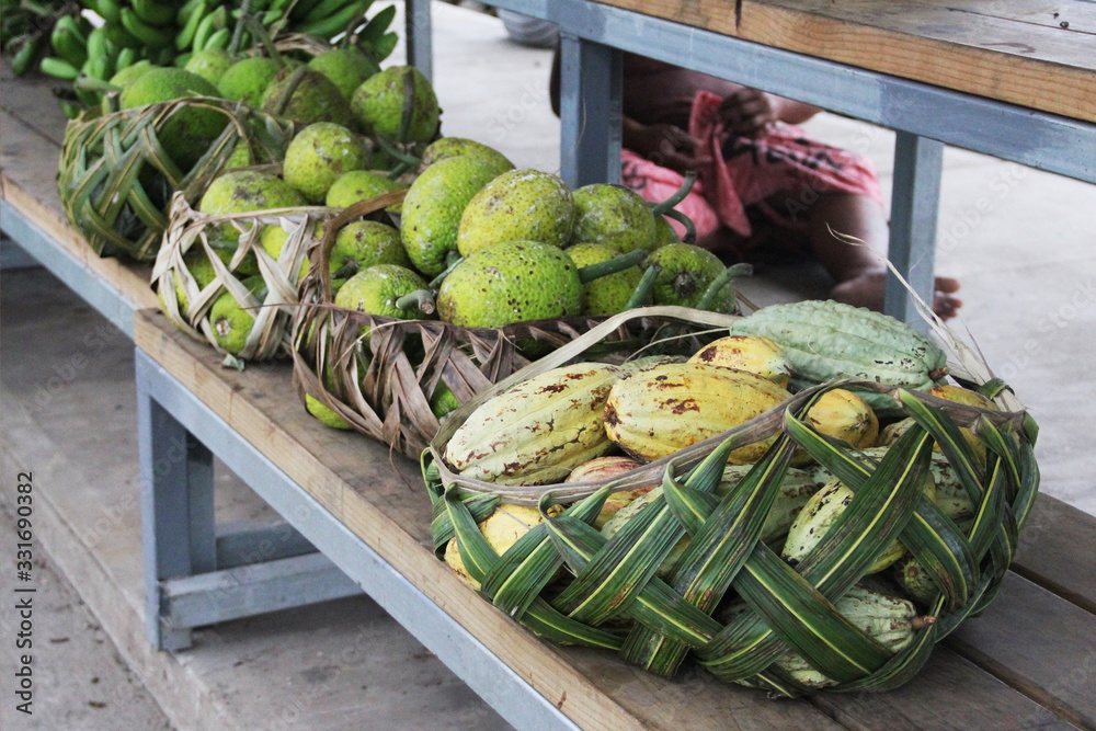
M 604 363 L 552 368 L 482 403 L 445 446 L 463 477 L 546 484 L 613 447 L 601 426 L 620 370 Z

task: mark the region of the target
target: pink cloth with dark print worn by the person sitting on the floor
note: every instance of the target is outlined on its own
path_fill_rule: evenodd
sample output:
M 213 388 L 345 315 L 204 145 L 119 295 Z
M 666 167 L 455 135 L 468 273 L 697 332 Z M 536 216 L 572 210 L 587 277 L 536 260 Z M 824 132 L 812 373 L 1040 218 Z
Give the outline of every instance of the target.
M 753 232 L 746 207 L 757 206 L 774 222 L 802 229 L 799 214 L 812 204 L 818 193 L 843 191 L 867 195 L 882 205 L 879 176 L 870 161 L 860 156 L 824 145 L 794 125 L 778 125 L 758 139 L 737 137 L 723 129 L 718 111 L 721 98 L 699 91 L 693 101 L 689 134 L 700 141 L 699 152 L 713 163 L 697 171 L 699 181 L 693 192 L 675 208 L 693 219 L 697 237 L 715 232 L 721 225 L 747 238 Z M 650 202 L 664 201 L 684 178 L 661 168 L 631 150 L 623 150 L 621 179 L 625 185 Z M 776 193 L 802 192 L 802 206 L 773 210 L 765 202 Z M 681 236 L 684 228 L 673 221 Z

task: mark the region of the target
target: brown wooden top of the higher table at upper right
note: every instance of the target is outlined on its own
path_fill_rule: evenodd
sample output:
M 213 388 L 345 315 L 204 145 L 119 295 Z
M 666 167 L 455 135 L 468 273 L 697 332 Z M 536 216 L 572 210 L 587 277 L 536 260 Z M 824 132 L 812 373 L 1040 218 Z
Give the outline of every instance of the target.
M 996 3 L 1002 16 L 880 0 L 603 1 L 776 48 L 1096 122 L 1096 38 L 1017 20 L 1021 0 Z M 1082 8 L 1084 0 L 1059 4 L 1070 15 L 1091 14 Z M 1012 16 L 1001 11 L 1005 5 Z

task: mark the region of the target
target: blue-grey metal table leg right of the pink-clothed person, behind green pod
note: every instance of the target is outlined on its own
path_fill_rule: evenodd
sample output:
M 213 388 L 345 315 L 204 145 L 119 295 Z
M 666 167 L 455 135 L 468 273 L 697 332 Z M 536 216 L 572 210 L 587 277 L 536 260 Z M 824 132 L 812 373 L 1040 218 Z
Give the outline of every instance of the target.
M 943 169 L 943 142 L 906 132 L 898 133 L 888 259 L 929 306 L 933 304 Z M 883 311 L 920 330 L 928 329 L 910 292 L 893 273 L 887 274 Z

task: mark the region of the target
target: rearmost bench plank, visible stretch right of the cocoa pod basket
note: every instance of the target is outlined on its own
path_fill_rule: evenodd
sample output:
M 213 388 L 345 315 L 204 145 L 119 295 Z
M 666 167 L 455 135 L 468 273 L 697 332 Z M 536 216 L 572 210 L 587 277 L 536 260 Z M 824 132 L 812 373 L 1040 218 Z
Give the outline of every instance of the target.
M 1040 495 L 1020 534 L 1013 571 L 1096 614 L 1096 516 Z

